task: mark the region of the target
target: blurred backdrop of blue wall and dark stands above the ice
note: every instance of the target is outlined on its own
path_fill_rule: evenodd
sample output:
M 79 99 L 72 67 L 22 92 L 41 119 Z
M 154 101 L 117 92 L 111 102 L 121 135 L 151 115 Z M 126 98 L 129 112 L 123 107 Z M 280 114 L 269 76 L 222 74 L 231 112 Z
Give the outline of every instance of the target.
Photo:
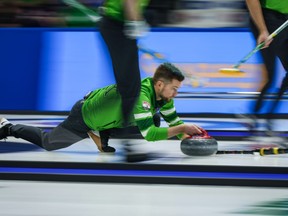
M 95 9 L 101 4 L 82 2 Z M 1 4 L 0 110 L 68 111 L 86 92 L 115 82 L 97 25 L 79 11 L 57 0 Z M 165 60 L 180 67 L 187 78 L 178 112 L 250 112 L 265 81 L 259 53 L 241 66 L 243 74 L 218 72 L 255 46 L 243 0 L 152 0 L 146 18 L 151 32 L 139 44 L 164 59 L 139 52 L 141 75 L 152 76 Z M 271 93 L 284 73 L 279 64 L 277 73 Z

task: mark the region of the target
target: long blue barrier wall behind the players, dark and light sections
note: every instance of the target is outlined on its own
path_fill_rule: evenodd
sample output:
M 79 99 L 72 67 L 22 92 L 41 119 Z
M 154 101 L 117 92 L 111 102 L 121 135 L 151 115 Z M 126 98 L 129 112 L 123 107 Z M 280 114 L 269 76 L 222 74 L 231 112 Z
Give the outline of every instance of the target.
M 168 60 L 186 75 L 180 89 L 184 95 L 257 91 L 263 75 L 259 54 L 241 66 L 245 71 L 241 76 L 218 72 L 237 63 L 254 43 L 248 29 L 153 29 L 139 44 L 163 59 L 139 52 L 141 76 L 152 76 Z M 86 92 L 115 82 L 107 50 L 95 29 L 4 28 L 0 45 L 0 110 L 68 111 Z M 197 101 L 190 98 L 183 105 L 181 100 L 178 111 L 187 112 L 191 105 L 191 112 L 237 111 Z

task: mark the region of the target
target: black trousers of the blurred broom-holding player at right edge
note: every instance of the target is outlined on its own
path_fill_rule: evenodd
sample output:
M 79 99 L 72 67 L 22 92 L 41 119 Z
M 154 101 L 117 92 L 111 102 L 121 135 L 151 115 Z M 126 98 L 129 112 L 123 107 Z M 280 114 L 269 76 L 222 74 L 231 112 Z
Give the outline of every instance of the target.
M 280 25 L 282 25 L 287 19 L 288 16 L 275 12 L 269 9 L 263 9 L 263 16 L 265 19 L 265 23 L 269 33 L 271 34 L 274 32 Z M 254 37 L 258 38 L 259 32 L 256 28 L 253 21 L 250 21 L 251 24 L 251 31 Z M 268 48 L 262 49 L 261 54 L 263 57 L 263 62 L 267 69 L 267 82 L 262 88 L 259 97 L 257 98 L 255 107 L 253 109 L 254 114 L 258 114 L 263 107 L 263 99 L 265 98 L 266 93 L 268 92 L 269 88 L 271 88 L 272 84 L 275 82 L 276 79 L 276 68 L 275 68 L 275 60 L 278 57 L 286 70 L 286 75 L 283 78 L 281 87 L 277 92 L 276 99 L 271 104 L 271 107 L 268 109 L 267 119 L 271 119 L 273 113 L 275 112 L 279 101 L 281 100 L 284 92 L 287 90 L 288 87 L 288 28 L 285 28 L 280 32 L 272 41 Z

